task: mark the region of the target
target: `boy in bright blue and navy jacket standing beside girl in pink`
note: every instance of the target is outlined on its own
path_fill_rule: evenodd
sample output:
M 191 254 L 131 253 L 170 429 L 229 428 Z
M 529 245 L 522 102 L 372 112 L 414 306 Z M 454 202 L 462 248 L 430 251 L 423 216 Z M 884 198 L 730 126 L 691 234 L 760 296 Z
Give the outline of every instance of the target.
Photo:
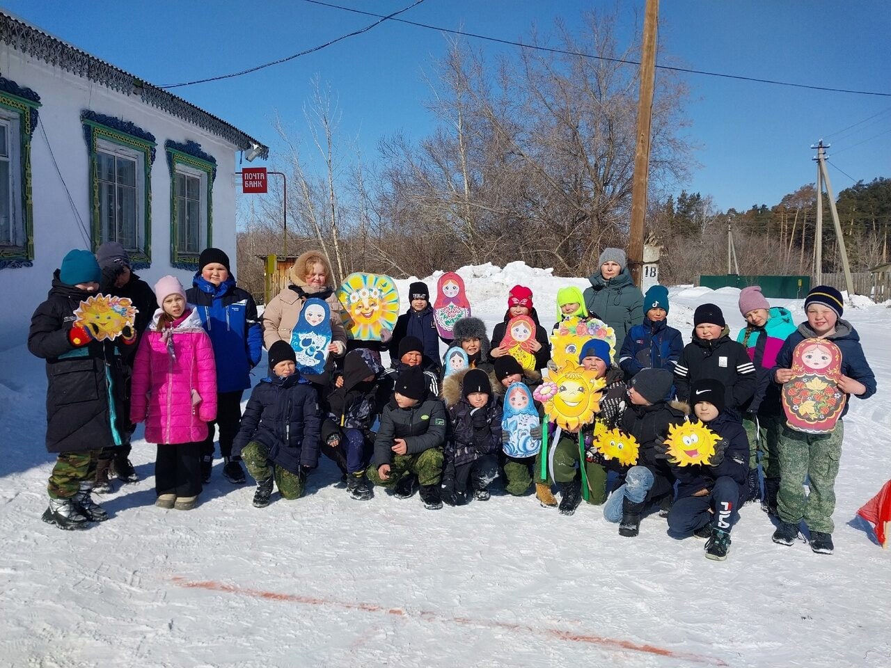
M 254 297 L 235 285 L 225 252 L 205 248 L 198 266 L 193 287 L 186 290 L 185 298 L 195 305 L 217 361 L 217 421 L 208 422 L 208 437 L 201 445 L 201 482 L 210 482 L 214 427 L 219 426 L 223 475 L 234 485 L 242 485 L 244 470 L 232 454 L 232 444 L 241 420 L 241 395 L 250 387 L 250 370 L 257 366 L 263 352 L 263 328 Z

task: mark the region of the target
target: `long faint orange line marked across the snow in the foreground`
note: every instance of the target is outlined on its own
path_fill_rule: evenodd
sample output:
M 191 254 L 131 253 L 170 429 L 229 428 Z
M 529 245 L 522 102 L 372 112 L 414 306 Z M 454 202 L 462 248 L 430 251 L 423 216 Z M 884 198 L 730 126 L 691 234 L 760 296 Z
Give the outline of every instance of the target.
M 261 591 L 239 587 L 234 584 L 224 584 L 223 582 L 189 582 L 184 577 L 174 576 L 172 581 L 179 587 L 187 589 L 204 589 L 209 591 L 225 591 L 229 594 L 241 594 L 255 599 L 288 601 L 290 603 L 303 603 L 307 606 L 325 606 L 339 607 L 343 610 L 362 610 L 370 613 L 381 613 L 383 615 L 394 615 L 397 617 L 408 616 L 401 607 L 384 607 L 373 603 L 357 603 L 353 601 L 343 601 L 338 599 L 323 598 L 317 596 L 302 596 L 300 594 L 282 594 L 278 591 Z M 698 654 L 688 654 L 686 652 L 675 652 L 673 649 L 660 648 L 655 645 L 633 642 L 631 640 L 619 640 L 614 638 L 604 638 L 602 636 L 588 635 L 584 633 L 576 633 L 575 631 L 561 631 L 560 629 L 535 628 L 527 624 L 510 623 L 510 622 L 493 622 L 485 619 L 471 619 L 470 617 L 457 617 L 450 615 L 442 615 L 441 613 L 430 610 L 419 610 L 412 615 L 413 618 L 421 619 L 424 622 L 448 622 L 459 626 L 475 626 L 482 629 L 498 629 L 502 631 L 520 631 L 523 633 L 531 633 L 536 636 L 566 640 L 569 642 L 584 642 L 591 645 L 599 645 L 603 648 L 610 649 L 627 649 L 633 652 L 643 652 L 645 654 L 654 654 L 657 656 L 666 656 L 668 658 L 678 659 L 682 661 L 691 661 L 697 664 L 711 664 L 717 666 L 726 666 L 721 659 L 711 656 L 701 656 Z

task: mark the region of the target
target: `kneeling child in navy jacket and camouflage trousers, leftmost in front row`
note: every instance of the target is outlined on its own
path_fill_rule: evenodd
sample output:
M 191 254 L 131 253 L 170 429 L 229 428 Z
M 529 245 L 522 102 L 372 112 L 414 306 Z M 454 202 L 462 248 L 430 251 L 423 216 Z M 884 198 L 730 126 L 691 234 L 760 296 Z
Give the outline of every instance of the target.
M 290 345 L 276 341 L 268 356 L 269 377 L 250 393 L 233 442 L 233 456 L 257 480 L 257 508 L 269 505 L 273 481 L 283 499 L 303 496 L 307 474 L 319 463 L 322 423 L 315 387 L 300 379 Z

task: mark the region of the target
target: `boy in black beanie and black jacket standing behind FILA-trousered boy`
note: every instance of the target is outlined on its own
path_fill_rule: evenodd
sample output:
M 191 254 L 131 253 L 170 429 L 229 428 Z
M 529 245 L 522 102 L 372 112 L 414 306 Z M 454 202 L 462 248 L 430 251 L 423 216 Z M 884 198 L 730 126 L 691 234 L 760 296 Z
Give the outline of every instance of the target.
M 740 413 L 755 395 L 755 365 L 746 348 L 730 338 L 721 309 L 703 304 L 693 314 L 693 339 L 674 365 L 674 387 L 680 401 L 690 401 L 690 386 L 699 379 L 720 380 L 728 410 Z

